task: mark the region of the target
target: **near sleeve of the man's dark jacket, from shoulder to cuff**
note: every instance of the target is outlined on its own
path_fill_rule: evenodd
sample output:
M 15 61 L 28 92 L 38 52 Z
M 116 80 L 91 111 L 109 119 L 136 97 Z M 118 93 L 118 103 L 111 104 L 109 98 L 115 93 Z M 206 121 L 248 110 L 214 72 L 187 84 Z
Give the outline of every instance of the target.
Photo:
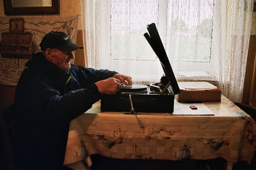
M 61 94 L 44 77 L 24 73 L 16 88 L 14 108 L 22 118 L 70 122 L 90 109 L 99 99 L 100 93 L 94 83 L 86 88 Z

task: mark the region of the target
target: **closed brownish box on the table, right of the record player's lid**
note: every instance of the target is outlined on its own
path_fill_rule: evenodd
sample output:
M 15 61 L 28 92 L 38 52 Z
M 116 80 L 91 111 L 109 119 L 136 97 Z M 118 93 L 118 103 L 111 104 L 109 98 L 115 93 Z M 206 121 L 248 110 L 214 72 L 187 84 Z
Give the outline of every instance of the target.
M 221 91 L 207 81 L 179 81 L 180 93 L 175 95 L 178 102 L 200 103 L 220 102 Z

